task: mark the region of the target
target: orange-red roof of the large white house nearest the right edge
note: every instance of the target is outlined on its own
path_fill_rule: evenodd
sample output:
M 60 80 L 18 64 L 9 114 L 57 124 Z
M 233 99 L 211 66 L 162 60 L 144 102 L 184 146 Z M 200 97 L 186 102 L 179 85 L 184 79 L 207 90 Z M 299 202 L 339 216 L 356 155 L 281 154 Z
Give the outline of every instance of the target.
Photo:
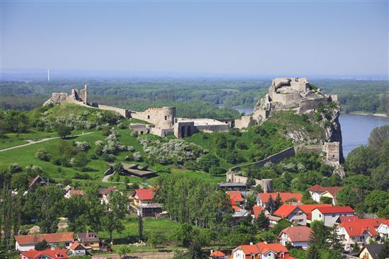
M 349 236 L 361 236 L 364 231 L 367 231 L 371 236 L 377 236 L 376 228 L 381 223 L 385 223 L 385 219 L 356 219 L 354 221 L 346 221 L 339 224 L 344 227 Z

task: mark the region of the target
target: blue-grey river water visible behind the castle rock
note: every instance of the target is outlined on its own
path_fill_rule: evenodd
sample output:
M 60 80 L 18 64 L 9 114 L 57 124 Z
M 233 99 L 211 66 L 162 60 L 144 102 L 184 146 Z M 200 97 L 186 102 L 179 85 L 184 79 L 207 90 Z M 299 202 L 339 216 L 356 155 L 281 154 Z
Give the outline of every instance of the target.
M 236 108 L 236 110 L 239 113 L 252 113 L 252 108 Z M 370 132 L 375 127 L 389 125 L 389 117 L 341 113 L 339 122 L 342 129 L 343 155 L 346 157 L 352 149 L 368 143 Z

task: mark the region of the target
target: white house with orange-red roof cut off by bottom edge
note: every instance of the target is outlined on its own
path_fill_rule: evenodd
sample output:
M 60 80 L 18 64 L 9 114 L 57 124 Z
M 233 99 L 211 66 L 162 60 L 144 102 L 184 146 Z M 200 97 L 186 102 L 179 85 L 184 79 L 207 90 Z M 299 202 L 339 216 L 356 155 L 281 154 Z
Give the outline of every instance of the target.
M 233 249 L 231 259 L 294 259 L 281 243 L 255 243 Z

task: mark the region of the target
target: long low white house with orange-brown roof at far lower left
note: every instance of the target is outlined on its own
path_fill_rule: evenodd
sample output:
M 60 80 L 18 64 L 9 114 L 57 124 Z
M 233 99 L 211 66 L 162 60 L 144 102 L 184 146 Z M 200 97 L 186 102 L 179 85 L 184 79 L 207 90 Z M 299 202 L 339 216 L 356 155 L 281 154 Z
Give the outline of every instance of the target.
M 40 235 L 24 235 L 15 236 L 15 249 L 16 251 L 29 251 L 35 248 L 35 244 L 45 240 L 50 246 L 64 243 L 66 247 L 69 247 L 73 242 L 73 232 L 66 233 L 53 233 L 53 234 L 40 234 Z

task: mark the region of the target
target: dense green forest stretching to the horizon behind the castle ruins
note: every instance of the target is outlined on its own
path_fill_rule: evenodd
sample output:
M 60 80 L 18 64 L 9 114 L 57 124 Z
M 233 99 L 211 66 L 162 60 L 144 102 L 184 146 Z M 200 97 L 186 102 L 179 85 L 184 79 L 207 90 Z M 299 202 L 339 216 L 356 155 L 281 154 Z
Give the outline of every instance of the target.
M 128 79 L 127 81 L 4 81 L 0 108 L 32 110 L 52 92 L 70 93 L 88 84 L 88 101 L 130 110 L 175 105 L 180 117 L 238 117 L 231 108 L 253 107 L 270 79 Z M 388 81 L 311 80 L 336 93 L 346 113 L 389 113 Z M 221 109 L 219 109 L 219 108 Z

